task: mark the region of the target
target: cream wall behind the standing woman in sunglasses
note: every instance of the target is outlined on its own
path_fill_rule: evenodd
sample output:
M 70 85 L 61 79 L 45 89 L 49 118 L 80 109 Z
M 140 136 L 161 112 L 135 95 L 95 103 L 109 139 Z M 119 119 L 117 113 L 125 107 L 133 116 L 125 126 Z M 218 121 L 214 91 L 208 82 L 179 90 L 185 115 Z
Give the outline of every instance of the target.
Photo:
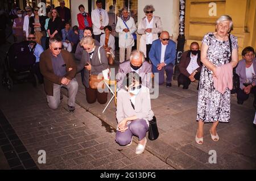
M 172 39 L 176 41 L 179 34 L 179 0 L 139 0 L 138 24 L 145 16 L 143 9 L 146 5 L 154 6 L 154 15 L 161 18 L 163 30 L 168 31 Z

